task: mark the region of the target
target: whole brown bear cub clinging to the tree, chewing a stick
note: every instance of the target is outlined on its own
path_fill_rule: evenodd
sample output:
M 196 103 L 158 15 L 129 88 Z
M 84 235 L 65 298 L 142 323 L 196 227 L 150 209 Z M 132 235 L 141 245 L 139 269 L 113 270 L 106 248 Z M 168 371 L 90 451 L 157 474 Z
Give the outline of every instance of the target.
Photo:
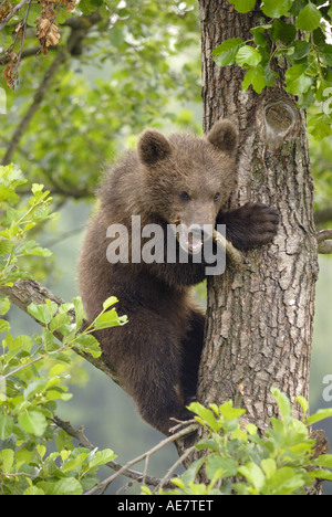
M 142 418 L 165 434 L 175 425 L 170 418 L 190 419 L 186 403 L 196 395 L 205 316 L 190 298 L 190 286 L 206 275 L 205 261 L 195 260 L 211 239 L 206 228 L 226 224 L 227 239 L 239 250 L 267 244 L 277 233 L 278 213 L 263 204 L 226 211 L 237 178 L 237 143 L 229 120 L 217 122 L 204 138 L 143 133 L 137 150 L 105 176 L 81 252 L 79 282 L 87 319 L 110 296 L 118 298 L 117 313 L 128 317 L 126 325 L 96 335 L 103 357 Z M 137 233 L 137 221 L 149 231 Z M 184 242 L 178 233 L 176 260 L 167 260 L 167 226 L 177 223 L 189 229 L 186 261 L 179 260 Z M 152 228 L 163 230 L 162 243 L 153 246 L 147 240 Z M 151 253 L 143 256 L 148 243 Z

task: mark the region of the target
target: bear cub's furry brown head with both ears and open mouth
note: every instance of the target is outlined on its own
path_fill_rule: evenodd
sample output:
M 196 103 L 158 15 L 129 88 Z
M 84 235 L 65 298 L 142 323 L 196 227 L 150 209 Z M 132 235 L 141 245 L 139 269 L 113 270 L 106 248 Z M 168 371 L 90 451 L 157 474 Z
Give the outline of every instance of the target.
M 190 232 L 190 253 L 198 253 L 211 236 L 217 214 L 230 199 L 237 147 L 229 120 L 217 122 L 204 138 L 186 134 L 166 138 L 147 129 L 138 140 L 145 204 L 166 223 Z

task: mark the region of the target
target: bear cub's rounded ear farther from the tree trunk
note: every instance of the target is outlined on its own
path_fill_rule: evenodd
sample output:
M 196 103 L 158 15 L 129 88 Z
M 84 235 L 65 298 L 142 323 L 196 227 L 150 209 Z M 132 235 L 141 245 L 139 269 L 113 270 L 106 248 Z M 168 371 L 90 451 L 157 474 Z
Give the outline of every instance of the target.
M 138 140 L 138 156 L 145 165 L 164 160 L 172 152 L 170 144 L 160 133 L 147 129 Z

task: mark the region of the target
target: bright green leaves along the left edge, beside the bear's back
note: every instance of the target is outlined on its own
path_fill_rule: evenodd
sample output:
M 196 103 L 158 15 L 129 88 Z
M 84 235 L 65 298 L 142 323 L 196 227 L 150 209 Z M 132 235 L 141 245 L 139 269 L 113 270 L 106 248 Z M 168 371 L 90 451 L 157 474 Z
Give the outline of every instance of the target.
M 15 189 L 25 184 L 20 170 L 0 167 L 0 286 L 10 286 L 31 275 L 24 270 L 30 255 L 49 256 L 28 234 L 35 225 L 53 217 L 48 191 L 32 186 L 32 197 L 21 203 Z M 80 298 L 60 306 L 50 299 L 31 303 L 30 314 L 42 325 L 33 336 L 10 334 L 4 318 L 9 299 L 0 297 L 0 490 L 11 495 L 77 495 L 94 486 L 100 465 L 114 460 L 111 450 L 90 451 L 75 447 L 64 431 L 54 425 L 56 401 L 68 401 L 66 379 L 71 349 L 101 355 L 92 333 L 100 328 L 123 325 L 115 297 L 105 300 L 103 310 L 89 326 L 82 326 L 84 312 Z M 74 317 L 73 317 L 74 316 Z M 61 338 L 61 342 L 55 338 Z M 50 442 L 53 451 L 50 451 Z M 55 447 L 55 451 L 54 451 Z

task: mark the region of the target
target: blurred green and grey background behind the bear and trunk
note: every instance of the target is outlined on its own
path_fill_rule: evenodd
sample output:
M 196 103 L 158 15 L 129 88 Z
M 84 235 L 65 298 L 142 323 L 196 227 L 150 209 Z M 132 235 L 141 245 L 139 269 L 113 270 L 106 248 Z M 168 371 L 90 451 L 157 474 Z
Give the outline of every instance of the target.
M 95 11 L 96 1 L 81 2 L 84 14 Z M 31 182 L 51 190 L 55 221 L 38 235 L 49 247 L 49 261 L 35 261 L 33 274 L 64 300 L 77 296 L 75 271 L 84 228 L 92 213 L 94 189 L 102 170 L 120 152 L 134 147 L 139 133 L 154 126 L 165 131 L 189 129 L 201 133 L 200 34 L 196 1 L 106 2 L 108 22 L 92 24 L 83 41 L 71 50 L 62 65 L 45 83 L 56 51 L 41 56 L 38 50 L 22 56 L 15 89 L 7 86 L 7 113 L 0 115 L 0 152 L 8 155 L 13 136 L 15 162 Z M 38 12 L 29 13 L 31 23 Z M 73 33 L 70 13 L 64 13 L 61 42 Z M 1 33 L 2 52 L 11 38 Z M 33 38 L 27 34 L 27 41 Z M 10 40 L 11 41 L 11 40 Z M 42 102 L 34 97 L 39 91 Z M 32 106 L 32 116 L 23 122 Z M 314 109 L 314 106 L 313 106 Z M 19 129 L 22 129 L 21 131 Z M 332 139 L 310 139 L 315 210 L 332 207 Z M 322 220 L 331 226 L 331 219 Z M 332 384 L 332 258 L 320 256 L 311 368 L 311 411 L 331 407 L 323 399 L 326 376 Z M 204 297 L 204 288 L 197 289 Z M 204 303 L 204 299 L 203 299 Z M 32 334 L 33 321 L 15 308 L 10 319 L 14 334 Z M 75 359 L 69 381 L 73 398 L 59 404 L 59 416 L 85 434 L 97 447 L 111 447 L 126 461 L 151 449 L 163 437 L 142 422 L 132 400 L 104 373 Z M 325 390 L 326 395 L 326 390 Z M 326 397 L 325 397 L 326 399 Z M 331 388 L 332 399 L 332 388 Z M 320 425 L 321 428 L 322 425 Z M 325 424 L 332 443 L 332 421 Z M 177 460 L 173 445 L 154 455 L 148 474 L 163 476 Z M 135 469 L 143 469 L 136 465 Z M 179 471 L 178 471 L 179 472 Z M 101 475 L 110 475 L 104 469 Z M 135 493 L 127 478 L 118 478 L 108 494 Z M 328 489 L 329 490 L 329 489 Z M 331 490 L 332 494 L 332 490 Z

